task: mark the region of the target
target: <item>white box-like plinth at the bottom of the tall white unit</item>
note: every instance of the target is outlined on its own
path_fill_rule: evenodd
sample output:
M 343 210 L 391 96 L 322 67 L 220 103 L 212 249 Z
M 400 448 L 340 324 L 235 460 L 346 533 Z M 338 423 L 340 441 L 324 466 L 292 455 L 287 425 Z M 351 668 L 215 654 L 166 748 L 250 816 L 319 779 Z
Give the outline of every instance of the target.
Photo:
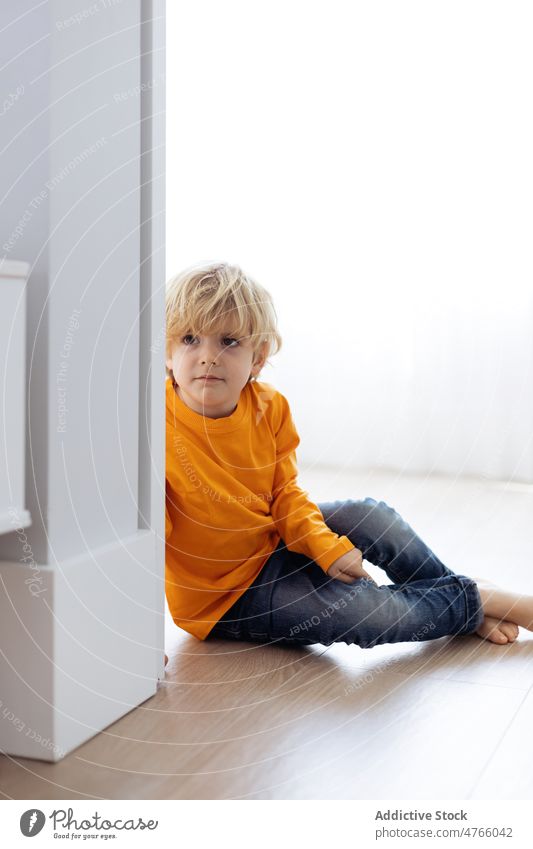
M 160 553 L 140 530 L 54 567 L 0 561 L 0 750 L 58 761 L 155 694 Z

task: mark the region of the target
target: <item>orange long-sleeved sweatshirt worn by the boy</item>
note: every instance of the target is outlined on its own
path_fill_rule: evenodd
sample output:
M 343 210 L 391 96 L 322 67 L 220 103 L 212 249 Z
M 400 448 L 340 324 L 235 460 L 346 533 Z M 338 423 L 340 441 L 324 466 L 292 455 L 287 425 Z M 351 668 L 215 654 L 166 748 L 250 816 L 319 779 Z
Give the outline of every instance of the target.
M 243 388 L 229 416 L 191 410 L 166 381 L 165 591 L 174 622 L 203 640 L 255 580 L 280 539 L 327 572 L 354 548 L 297 484 L 287 399 Z

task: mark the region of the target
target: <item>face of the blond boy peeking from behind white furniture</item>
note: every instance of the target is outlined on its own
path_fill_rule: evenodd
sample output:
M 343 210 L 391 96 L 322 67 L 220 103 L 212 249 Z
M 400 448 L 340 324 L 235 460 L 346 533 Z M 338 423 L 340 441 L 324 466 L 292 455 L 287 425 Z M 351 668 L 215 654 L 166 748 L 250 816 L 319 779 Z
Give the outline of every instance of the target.
M 167 368 L 179 397 L 191 410 L 213 419 L 231 415 L 248 378 L 256 377 L 265 362 L 263 351 L 254 356 L 253 340 L 230 331 L 189 333 L 169 347 Z

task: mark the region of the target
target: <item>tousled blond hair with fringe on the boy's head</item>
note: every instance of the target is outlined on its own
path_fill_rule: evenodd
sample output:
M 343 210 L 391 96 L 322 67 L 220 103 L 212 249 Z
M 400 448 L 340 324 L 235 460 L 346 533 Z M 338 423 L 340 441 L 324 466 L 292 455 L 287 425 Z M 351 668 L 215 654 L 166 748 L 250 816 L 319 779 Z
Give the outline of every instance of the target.
M 194 265 L 172 277 L 166 286 L 167 357 L 173 342 L 185 334 L 227 332 L 252 340 L 254 355 L 266 348 L 277 354 L 282 339 L 272 297 L 238 265 L 214 262 Z M 174 380 L 167 367 L 167 375 Z M 256 380 L 256 377 L 249 378 Z

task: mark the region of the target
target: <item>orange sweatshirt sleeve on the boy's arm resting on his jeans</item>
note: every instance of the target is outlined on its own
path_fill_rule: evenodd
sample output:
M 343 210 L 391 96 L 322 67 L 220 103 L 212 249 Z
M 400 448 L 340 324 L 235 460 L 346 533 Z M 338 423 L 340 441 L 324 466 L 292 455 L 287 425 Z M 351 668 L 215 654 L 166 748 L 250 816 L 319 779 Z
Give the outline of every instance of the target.
M 355 546 L 330 530 L 318 506 L 297 483 L 296 448 L 300 437 L 289 404 L 281 395 L 282 417 L 276 433 L 276 467 L 271 514 L 287 548 L 305 554 L 327 572 L 331 564 Z

